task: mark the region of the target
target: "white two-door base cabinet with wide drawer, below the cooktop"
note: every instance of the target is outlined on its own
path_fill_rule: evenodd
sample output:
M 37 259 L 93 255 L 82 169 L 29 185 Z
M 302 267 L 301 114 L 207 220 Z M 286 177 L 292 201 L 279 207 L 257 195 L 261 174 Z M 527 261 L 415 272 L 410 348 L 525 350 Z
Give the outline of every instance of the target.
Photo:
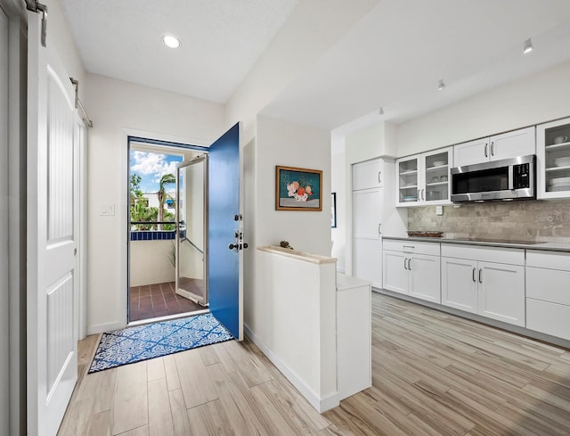
M 442 304 L 525 326 L 525 251 L 442 246 Z

